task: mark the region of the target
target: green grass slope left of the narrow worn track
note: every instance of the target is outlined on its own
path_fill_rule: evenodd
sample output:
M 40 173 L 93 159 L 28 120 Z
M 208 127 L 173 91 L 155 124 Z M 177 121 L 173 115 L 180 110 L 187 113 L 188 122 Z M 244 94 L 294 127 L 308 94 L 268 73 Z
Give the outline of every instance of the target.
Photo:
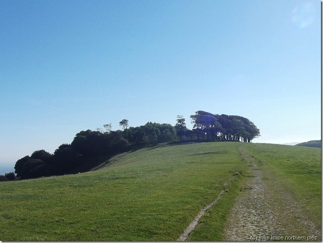
M 1 240 L 176 240 L 243 168 L 238 146 L 163 145 L 93 172 L 1 183 Z

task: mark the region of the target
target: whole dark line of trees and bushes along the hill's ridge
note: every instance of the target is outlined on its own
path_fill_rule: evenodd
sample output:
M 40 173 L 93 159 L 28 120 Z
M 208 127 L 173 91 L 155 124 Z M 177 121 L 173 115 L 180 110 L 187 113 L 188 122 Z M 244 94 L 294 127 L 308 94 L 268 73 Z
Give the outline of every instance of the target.
M 185 118 L 177 116 L 177 124 L 148 122 L 139 127 L 128 127 L 128 120 L 119 125 L 123 130 L 112 131 L 106 124 L 96 131 L 81 131 L 71 144 L 62 144 L 54 152 L 38 150 L 16 162 L 18 179 L 65 175 L 85 172 L 95 167 L 100 158 L 157 143 L 181 141 L 241 141 L 251 142 L 260 136 L 259 129 L 249 119 L 238 115 L 212 114 L 196 111 L 190 116 L 194 125 L 186 127 Z

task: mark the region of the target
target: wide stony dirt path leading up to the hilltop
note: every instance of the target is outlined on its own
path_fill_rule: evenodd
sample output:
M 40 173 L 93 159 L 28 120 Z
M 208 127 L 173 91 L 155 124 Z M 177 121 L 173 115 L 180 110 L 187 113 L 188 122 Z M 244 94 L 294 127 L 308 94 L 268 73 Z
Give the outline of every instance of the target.
M 310 220 L 306 208 L 269 172 L 262 171 L 259 160 L 247 155 L 243 147 L 240 152 L 248 163 L 250 179 L 232 209 L 225 240 L 321 240 L 320 226 Z

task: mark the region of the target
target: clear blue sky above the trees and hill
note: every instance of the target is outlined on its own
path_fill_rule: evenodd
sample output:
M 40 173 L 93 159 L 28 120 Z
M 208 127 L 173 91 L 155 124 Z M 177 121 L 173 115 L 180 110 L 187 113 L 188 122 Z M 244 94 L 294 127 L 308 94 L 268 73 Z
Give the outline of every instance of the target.
M 0 1 L 0 164 L 129 120 L 241 115 L 321 135 L 320 1 Z

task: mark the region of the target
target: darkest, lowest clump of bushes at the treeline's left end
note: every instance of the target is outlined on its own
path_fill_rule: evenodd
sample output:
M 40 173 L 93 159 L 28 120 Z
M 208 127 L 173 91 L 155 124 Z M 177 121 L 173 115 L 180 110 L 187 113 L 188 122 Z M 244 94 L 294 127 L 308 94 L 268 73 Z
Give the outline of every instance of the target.
M 119 132 L 81 131 L 71 144 L 60 145 L 54 154 L 38 150 L 18 160 L 15 173 L 20 179 L 77 173 L 93 159 L 122 152 L 127 146 Z

